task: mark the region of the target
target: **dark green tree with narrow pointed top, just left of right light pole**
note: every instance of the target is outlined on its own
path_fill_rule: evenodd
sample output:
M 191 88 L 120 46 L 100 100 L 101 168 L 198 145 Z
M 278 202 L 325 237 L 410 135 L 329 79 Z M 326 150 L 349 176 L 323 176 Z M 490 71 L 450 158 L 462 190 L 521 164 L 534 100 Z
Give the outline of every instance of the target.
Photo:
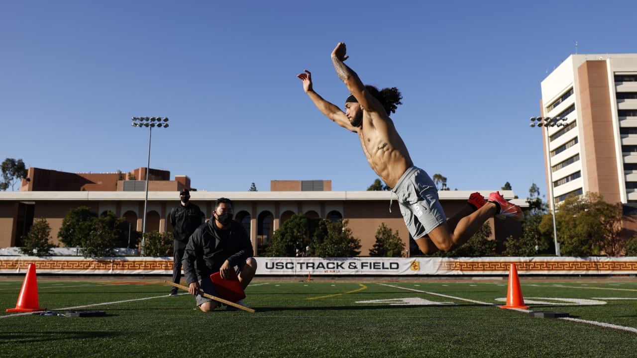
M 550 254 L 555 252 L 552 248 L 552 237 L 550 233 L 540 231 L 540 223 L 547 216 L 548 206 L 540 197 L 540 188 L 533 183 L 529 189 L 529 197 L 526 199 L 529 209 L 524 213 L 522 222 L 522 237 L 513 238 L 509 236 L 505 241 L 506 250 L 503 254 L 508 256 L 534 256 L 540 254 Z

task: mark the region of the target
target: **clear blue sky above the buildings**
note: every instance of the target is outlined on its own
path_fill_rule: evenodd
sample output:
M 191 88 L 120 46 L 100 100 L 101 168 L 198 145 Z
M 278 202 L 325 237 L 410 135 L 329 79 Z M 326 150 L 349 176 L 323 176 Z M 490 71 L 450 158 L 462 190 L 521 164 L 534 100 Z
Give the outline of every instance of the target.
M 620 10 L 618 10 L 620 9 Z M 362 81 L 397 87 L 392 118 L 415 165 L 451 189 L 511 183 L 546 196 L 540 82 L 574 54 L 635 52 L 626 1 L 4 1 L 0 159 L 69 172 L 145 167 L 198 190 L 270 180 L 377 178 L 357 136 L 296 78 L 341 106 L 330 54 L 347 45 Z

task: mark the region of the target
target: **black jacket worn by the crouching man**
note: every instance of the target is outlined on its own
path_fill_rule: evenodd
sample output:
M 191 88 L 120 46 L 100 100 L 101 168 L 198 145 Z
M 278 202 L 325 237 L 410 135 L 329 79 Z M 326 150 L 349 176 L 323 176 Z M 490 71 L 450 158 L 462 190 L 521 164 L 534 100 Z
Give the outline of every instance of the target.
M 254 255 L 252 241 L 243 225 L 232 220 L 230 229 L 224 233 L 217 229 L 215 219 L 211 218 L 199 226 L 190 236 L 183 253 L 182 267 L 188 284 L 197 282 L 219 271 L 227 260 L 232 266 L 243 266 L 245 261 Z

